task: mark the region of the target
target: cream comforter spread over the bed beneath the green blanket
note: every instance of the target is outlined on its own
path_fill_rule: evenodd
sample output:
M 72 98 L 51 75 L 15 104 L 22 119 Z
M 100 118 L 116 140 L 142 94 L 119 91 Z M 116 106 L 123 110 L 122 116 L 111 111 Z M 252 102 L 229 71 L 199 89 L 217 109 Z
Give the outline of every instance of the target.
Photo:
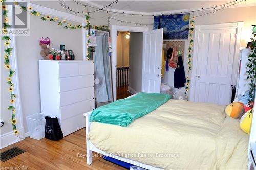
M 90 141 L 162 169 L 246 169 L 248 135 L 224 108 L 169 100 L 128 127 L 92 122 Z

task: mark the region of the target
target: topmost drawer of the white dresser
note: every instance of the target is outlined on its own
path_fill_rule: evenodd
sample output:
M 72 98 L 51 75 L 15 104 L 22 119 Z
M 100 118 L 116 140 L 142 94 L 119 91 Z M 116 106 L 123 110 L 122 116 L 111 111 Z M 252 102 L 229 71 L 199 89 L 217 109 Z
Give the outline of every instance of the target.
M 60 62 L 59 77 L 80 75 L 92 75 L 94 72 L 93 62 Z

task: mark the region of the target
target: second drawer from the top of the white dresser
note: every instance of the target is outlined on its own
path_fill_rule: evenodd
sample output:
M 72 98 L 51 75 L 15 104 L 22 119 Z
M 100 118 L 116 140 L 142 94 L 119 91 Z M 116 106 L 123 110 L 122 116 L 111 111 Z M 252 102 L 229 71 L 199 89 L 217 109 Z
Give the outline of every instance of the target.
M 93 86 L 93 75 L 65 77 L 59 79 L 60 92 Z

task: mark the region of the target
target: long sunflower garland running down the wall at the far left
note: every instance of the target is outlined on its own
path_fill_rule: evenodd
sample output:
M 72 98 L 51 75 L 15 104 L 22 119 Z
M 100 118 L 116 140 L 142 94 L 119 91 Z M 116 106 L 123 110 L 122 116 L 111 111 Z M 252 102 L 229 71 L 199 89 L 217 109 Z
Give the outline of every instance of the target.
M 5 34 L 3 37 L 2 37 L 2 40 L 5 41 L 4 44 L 6 46 L 5 48 L 5 55 L 4 55 L 4 59 L 5 59 L 5 68 L 7 70 L 9 70 L 9 75 L 8 75 L 8 78 L 7 78 L 7 83 L 10 85 L 10 87 L 8 88 L 8 91 L 10 92 L 10 105 L 8 106 L 8 110 L 11 111 L 12 113 L 12 117 L 11 117 L 11 123 L 12 123 L 12 129 L 13 129 L 13 132 L 15 135 L 17 135 L 19 132 L 16 128 L 16 108 L 14 107 L 14 103 L 15 103 L 15 98 L 16 98 L 16 94 L 13 93 L 13 88 L 14 88 L 14 85 L 12 83 L 12 76 L 14 74 L 14 70 L 11 69 L 11 66 L 10 66 L 10 60 L 9 58 L 11 57 L 12 55 L 12 48 L 10 47 L 10 41 L 11 41 L 11 38 L 7 35 L 8 31 L 7 29 L 9 27 L 11 27 L 9 24 L 8 24 L 8 10 L 6 10 L 6 5 L 5 5 L 5 2 L 6 0 L 2 0 L 2 10 L 3 10 L 3 16 L 5 16 L 5 20 L 4 20 L 4 23 L 3 23 L 3 29 L 2 29 L 2 32 Z

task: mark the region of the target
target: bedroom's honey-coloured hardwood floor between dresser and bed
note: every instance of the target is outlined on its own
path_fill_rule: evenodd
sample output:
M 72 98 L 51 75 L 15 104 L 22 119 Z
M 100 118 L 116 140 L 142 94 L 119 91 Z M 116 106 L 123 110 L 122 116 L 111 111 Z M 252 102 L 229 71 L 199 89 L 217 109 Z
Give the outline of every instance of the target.
M 48 139 L 35 140 L 26 138 L 6 147 L 1 152 L 12 147 L 19 147 L 26 152 L 0 163 L 1 169 L 124 169 L 105 161 L 102 157 L 93 158 L 89 166 L 86 163 L 86 132 L 76 131 L 59 141 Z M 94 153 L 96 154 L 96 153 Z

